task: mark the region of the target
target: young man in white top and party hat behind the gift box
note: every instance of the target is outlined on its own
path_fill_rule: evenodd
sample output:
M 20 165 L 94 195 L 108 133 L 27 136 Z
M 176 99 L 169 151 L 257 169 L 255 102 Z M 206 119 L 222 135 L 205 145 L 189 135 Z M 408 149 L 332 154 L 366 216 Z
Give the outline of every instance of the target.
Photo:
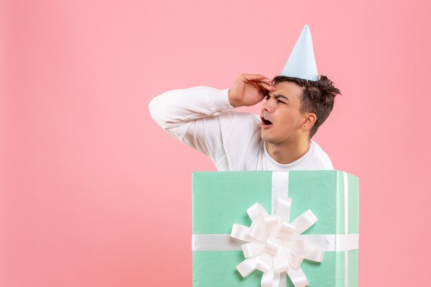
M 333 109 L 337 94 L 339 89 L 317 74 L 306 25 L 282 76 L 273 81 L 242 74 L 231 89 L 176 89 L 151 100 L 149 110 L 162 129 L 209 156 L 219 171 L 333 169 L 311 138 Z M 264 98 L 260 116 L 235 111 Z

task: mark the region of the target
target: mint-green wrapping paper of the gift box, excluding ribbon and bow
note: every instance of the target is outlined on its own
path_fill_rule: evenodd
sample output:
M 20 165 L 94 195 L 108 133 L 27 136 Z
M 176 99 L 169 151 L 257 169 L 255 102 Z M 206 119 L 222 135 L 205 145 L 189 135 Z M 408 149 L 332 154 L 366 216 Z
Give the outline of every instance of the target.
M 193 173 L 193 235 L 229 235 L 234 223 L 250 226 L 246 210 L 256 202 L 272 213 L 272 182 L 272 171 Z M 290 171 L 286 194 L 292 198 L 291 221 L 307 209 L 318 218 L 302 234 L 359 233 L 357 177 L 342 171 Z M 244 278 L 236 270 L 242 260 L 242 251 L 193 250 L 193 287 L 260 287 L 260 270 Z M 310 287 L 355 287 L 358 250 L 325 251 L 323 262 L 305 259 L 301 268 Z M 289 278 L 284 286 L 294 287 Z

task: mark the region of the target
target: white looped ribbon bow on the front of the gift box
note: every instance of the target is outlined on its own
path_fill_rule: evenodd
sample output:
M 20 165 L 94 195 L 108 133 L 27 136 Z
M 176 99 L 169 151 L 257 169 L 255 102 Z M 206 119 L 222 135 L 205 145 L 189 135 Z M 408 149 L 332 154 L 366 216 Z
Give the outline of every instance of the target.
M 302 261 L 323 261 L 324 249 L 308 244 L 307 237 L 301 235 L 317 222 L 317 217 L 308 209 L 288 223 L 291 202 L 287 195 L 280 195 L 274 215 L 268 215 L 262 205 L 255 203 L 247 209 L 252 221 L 250 227 L 233 224 L 231 237 L 249 242 L 242 244 L 246 259 L 236 268 L 242 277 L 261 270 L 264 273 L 261 287 L 278 287 L 280 274 L 284 272 L 295 287 L 308 286 Z

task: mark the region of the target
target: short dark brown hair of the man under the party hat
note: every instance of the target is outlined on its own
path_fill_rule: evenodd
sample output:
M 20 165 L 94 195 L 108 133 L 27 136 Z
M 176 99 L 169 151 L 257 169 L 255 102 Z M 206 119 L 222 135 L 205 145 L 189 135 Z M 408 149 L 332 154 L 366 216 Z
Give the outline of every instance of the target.
M 337 94 L 341 95 L 341 92 L 324 75 L 320 76 L 319 81 L 309 81 L 288 76 L 276 76 L 273 78 L 273 85 L 280 82 L 291 82 L 302 87 L 303 92 L 299 112 L 301 114 L 311 112 L 316 115 L 316 122 L 310 131 L 310 138 L 312 138 L 320 125 L 328 118 L 330 111 L 333 110 L 335 96 Z

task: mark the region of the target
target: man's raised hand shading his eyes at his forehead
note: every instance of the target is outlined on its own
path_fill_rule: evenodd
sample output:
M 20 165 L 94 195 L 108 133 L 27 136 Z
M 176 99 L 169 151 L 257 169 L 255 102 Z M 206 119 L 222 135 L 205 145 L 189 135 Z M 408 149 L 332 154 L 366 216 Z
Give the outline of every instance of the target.
M 274 91 L 275 87 L 266 76 L 242 74 L 229 89 L 229 103 L 232 107 L 249 107 L 263 100 L 268 92 Z

